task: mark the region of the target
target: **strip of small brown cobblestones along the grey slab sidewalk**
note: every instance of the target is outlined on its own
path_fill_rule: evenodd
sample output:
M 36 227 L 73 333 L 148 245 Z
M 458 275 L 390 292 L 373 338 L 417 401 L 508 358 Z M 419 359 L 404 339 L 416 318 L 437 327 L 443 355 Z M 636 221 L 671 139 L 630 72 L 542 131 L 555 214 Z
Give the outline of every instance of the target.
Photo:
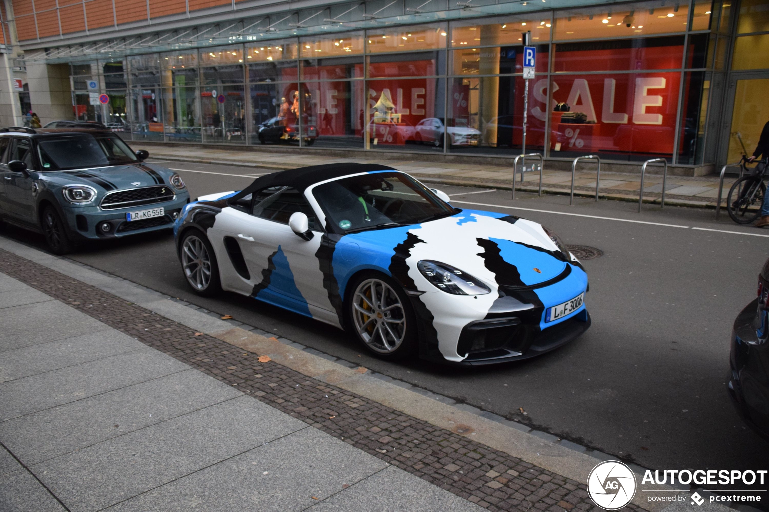
M 258 354 L 195 335 L 185 325 L 4 249 L 0 272 L 488 510 L 601 510 L 577 481 L 276 362 L 258 362 Z M 642 510 L 634 504 L 625 508 Z

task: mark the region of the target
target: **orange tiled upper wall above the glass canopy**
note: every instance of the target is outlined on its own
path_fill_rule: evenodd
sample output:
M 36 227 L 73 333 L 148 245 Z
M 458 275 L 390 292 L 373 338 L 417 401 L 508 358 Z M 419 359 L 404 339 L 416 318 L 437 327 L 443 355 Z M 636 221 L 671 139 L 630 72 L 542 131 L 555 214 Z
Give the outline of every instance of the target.
M 232 0 L 188 0 L 188 3 L 189 10 L 195 11 L 230 5 Z M 147 20 L 148 16 L 159 18 L 186 10 L 185 0 L 149 0 L 149 12 L 146 0 L 58 0 L 58 6 L 56 0 L 35 0 L 34 3 L 32 0 L 13 0 L 19 41 Z

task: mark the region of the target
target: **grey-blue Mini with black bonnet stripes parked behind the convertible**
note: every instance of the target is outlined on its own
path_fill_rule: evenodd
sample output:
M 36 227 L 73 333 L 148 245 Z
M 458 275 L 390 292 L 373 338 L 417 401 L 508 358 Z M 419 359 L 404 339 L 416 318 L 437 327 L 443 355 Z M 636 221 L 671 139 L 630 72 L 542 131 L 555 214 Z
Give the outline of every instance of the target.
M 0 216 L 43 233 L 56 254 L 77 240 L 170 228 L 189 193 L 148 156 L 103 129 L 3 128 Z

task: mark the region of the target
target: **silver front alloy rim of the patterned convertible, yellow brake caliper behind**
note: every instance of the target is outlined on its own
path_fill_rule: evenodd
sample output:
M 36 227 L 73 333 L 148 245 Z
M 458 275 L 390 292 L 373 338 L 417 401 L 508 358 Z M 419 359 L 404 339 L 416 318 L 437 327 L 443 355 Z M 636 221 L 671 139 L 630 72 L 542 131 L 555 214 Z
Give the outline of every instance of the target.
M 401 299 L 388 283 L 365 279 L 352 296 L 355 330 L 371 350 L 389 354 L 406 335 L 406 315 Z

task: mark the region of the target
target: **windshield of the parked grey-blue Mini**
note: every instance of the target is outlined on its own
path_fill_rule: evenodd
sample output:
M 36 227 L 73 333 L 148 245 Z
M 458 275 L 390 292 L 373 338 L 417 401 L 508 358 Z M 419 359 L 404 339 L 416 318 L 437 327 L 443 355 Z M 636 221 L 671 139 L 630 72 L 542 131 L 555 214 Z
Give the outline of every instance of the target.
M 133 151 L 113 134 L 68 134 L 38 139 L 43 170 L 83 169 L 135 164 Z

